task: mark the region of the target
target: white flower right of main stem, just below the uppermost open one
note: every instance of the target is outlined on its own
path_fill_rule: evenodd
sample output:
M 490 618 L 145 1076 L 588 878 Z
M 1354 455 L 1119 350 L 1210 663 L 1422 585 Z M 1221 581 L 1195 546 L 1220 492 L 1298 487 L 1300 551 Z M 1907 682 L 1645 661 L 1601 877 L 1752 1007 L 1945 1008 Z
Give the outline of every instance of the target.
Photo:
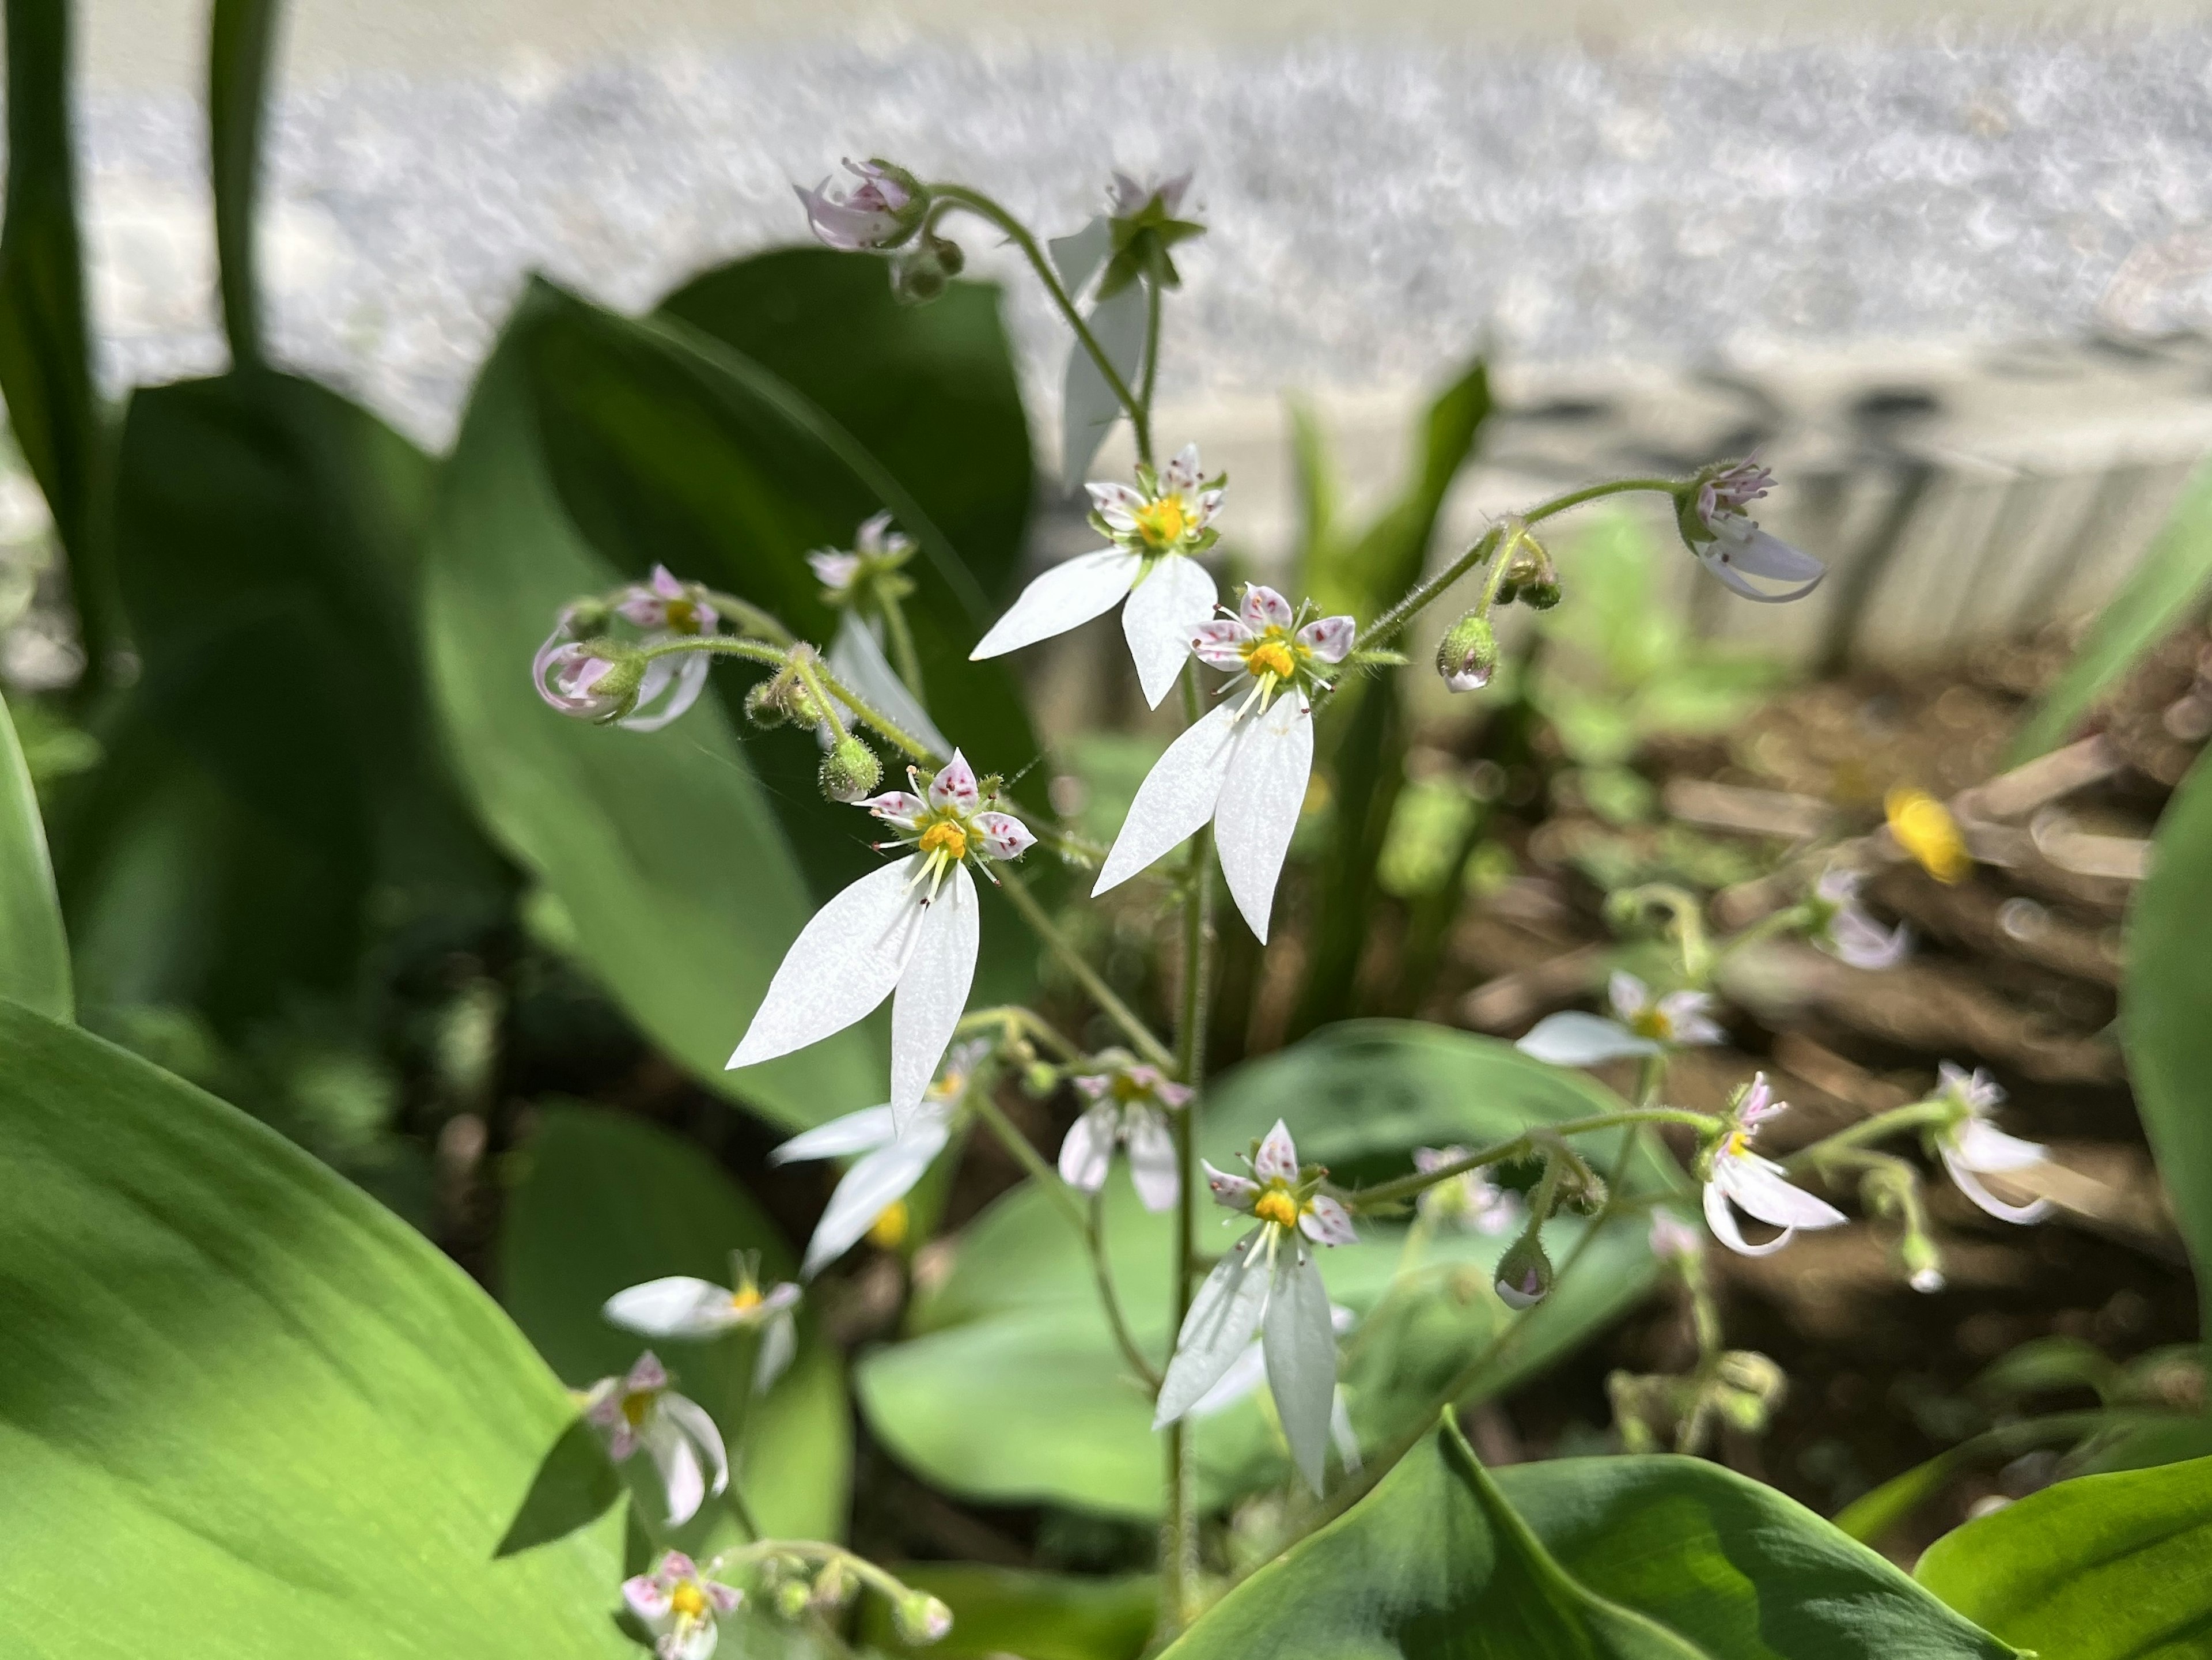
M 1230 896 L 1261 943 L 1267 941 L 1274 885 L 1314 770 L 1312 693 L 1325 684 L 1316 664 L 1343 662 L 1356 633 L 1352 618 L 1294 624 L 1290 602 L 1254 582 L 1239 615 L 1197 631 L 1192 651 L 1214 668 L 1239 671 L 1243 686 L 1230 682 L 1230 697 L 1175 739 L 1146 775 L 1093 896 L 1119 888 L 1212 819 Z

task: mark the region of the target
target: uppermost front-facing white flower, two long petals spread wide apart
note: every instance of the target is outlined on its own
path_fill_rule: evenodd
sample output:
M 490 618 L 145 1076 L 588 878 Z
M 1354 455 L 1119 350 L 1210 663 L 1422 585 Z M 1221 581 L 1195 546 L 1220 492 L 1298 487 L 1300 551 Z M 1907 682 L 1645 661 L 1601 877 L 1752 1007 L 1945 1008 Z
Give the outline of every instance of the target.
M 1139 467 L 1137 483 L 1141 489 L 1086 485 L 1095 505 L 1091 522 L 1113 547 L 1055 564 L 1022 589 L 971 660 L 1051 640 L 1128 598 L 1121 635 L 1144 699 L 1159 708 L 1183 671 L 1192 635 L 1214 611 L 1214 580 L 1190 556 L 1214 544 L 1212 520 L 1223 491 L 1201 487 L 1197 445 L 1183 445 L 1157 476 Z

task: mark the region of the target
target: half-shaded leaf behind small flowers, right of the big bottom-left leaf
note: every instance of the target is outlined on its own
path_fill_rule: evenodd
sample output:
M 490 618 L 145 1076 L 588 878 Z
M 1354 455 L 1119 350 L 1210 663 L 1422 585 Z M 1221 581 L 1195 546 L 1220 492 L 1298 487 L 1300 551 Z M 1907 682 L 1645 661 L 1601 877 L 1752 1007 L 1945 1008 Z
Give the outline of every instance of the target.
M 599 1317 L 617 1290 L 661 1275 L 726 1286 L 732 1251 L 759 1251 L 763 1282 L 792 1277 L 790 1244 L 697 1147 L 619 1113 L 551 1107 L 518 1155 L 500 1220 L 502 1301 L 573 1388 L 628 1370 L 650 1346 L 726 1430 L 743 1417 L 732 1479 L 761 1527 L 841 1538 L 852 1425 L 827 1348 L 801 1341 L 792 1370 L 743 1410 L 750 1343 L 648 1343 Z

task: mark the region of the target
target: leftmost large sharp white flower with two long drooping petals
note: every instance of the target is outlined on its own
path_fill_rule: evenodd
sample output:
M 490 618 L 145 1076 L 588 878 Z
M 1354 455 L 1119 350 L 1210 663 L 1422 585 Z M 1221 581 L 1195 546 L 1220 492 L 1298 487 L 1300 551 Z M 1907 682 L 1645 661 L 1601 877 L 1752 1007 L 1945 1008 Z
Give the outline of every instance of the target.
M 860 876 L 823 905 L 783 954 L 732 1067 L 787 1056 L 843 1031 L 891 998 L 891 1111 L 914 1111 L 953 1040 L 975 978 L 975 883 L 991 859 L 1035 843 L 1009 812 L 982 808 L 960 750 L 929 781 L 858 806 L 898 830 L 911 857 Z

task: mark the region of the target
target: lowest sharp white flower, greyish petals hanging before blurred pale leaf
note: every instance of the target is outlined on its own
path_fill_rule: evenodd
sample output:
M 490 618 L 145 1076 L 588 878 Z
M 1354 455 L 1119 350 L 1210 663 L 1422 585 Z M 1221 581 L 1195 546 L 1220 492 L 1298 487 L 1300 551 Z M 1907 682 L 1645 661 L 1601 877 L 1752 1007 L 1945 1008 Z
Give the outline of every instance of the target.
M 1298 1166 L 1281 1122 L 1259 1144 L 1250 1177 L 1206 1166 L 1214 1202 L 1259 1217 L 1259 1226 L 1230 1246 L 1190 1301 L 1152 1417 L 1155 1430 L 1186 1417 L 1259 1332 L 1283 1439 L 1316 1494 L 1336 1399 L 1336 1330 L 1310 1242 L 1358 1239 L 1345 1206 L 1318 1191 L 1321 1175 Z

